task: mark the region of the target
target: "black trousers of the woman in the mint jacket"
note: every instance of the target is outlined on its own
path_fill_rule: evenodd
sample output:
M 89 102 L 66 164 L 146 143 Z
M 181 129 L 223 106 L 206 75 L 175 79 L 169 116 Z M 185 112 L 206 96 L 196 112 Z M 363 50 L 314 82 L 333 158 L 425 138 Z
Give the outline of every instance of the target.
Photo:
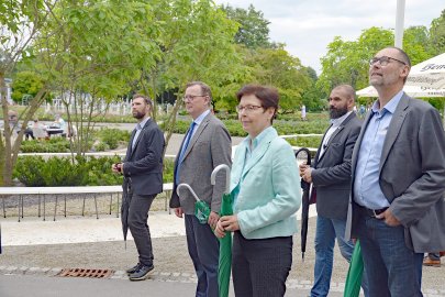
M 235 296 L 285 296 L 292 266 L 292 237 L 247 240 L 234 232 L 232 273 Z

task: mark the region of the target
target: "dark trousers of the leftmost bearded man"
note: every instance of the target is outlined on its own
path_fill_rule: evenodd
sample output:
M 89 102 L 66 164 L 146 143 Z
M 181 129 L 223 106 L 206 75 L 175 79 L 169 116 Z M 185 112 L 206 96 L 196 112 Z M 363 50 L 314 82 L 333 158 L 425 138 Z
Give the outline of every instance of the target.
M 156 195 L 141 196 L 133 194 L 129 210 L 130 232 L 140 254 L 140 263 L 145 266 L 153 265 L 152 238 L 149 237 L 147 221 L 148 210 L 155 197 Z

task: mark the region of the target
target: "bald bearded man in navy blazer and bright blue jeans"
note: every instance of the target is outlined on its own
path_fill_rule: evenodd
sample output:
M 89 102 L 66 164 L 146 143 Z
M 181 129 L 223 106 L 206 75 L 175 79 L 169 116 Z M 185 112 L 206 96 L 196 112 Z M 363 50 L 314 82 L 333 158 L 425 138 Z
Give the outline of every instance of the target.
M 348 262 L 354 251 L 353 242 L 346 241 L 344 235 L 351 191 L 351 160 L 361 127 L 361 121 L 354 112 L 355 97 L 355 90 L 349 85 L 340 85 L 331 91 L 327 99 L 331 125 L 323 136 L 312 167 L 300 165 L 301 177 L 312 183 L 313 193 L 316 193 L 312 297 L 325 297 L 329 294 L 335 240 Z

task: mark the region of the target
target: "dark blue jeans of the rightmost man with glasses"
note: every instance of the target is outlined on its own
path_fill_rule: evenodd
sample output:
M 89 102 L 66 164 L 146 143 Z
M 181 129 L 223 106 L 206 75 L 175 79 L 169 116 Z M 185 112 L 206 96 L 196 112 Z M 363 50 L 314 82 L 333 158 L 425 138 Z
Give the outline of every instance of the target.
M 404 228 L 389 227 L 383 220 L 361 216 L 358 238 L 370 297 L 419 297 L 423 253 L 404 243 Z

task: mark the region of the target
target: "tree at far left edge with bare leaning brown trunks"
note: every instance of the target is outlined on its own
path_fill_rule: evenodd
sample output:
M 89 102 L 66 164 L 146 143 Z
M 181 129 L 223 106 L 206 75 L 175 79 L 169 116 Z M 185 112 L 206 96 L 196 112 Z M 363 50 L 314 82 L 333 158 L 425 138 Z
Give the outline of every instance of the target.
M 2 172 L 0 186 L 12 184 L 12 169 L 16 162 L 24 128 L 47 95 L 44 84 L 31 105 L 20 114 L 19 119 L 23 120 L 23 123 L 15 138 L 13 129 L 10 129 L 9 125 L 9 106 L 3 94 L 4 78 L 11 75 L 19 61 L 30 58 L 32 55 L 30 45 L 49 18 L 49 11 L 56 2 L 56 0 L 52 2 L 44 0 L 0 2 L 0 100 L 4 119 L 4 141 L 0 133 L 0 170 Z

